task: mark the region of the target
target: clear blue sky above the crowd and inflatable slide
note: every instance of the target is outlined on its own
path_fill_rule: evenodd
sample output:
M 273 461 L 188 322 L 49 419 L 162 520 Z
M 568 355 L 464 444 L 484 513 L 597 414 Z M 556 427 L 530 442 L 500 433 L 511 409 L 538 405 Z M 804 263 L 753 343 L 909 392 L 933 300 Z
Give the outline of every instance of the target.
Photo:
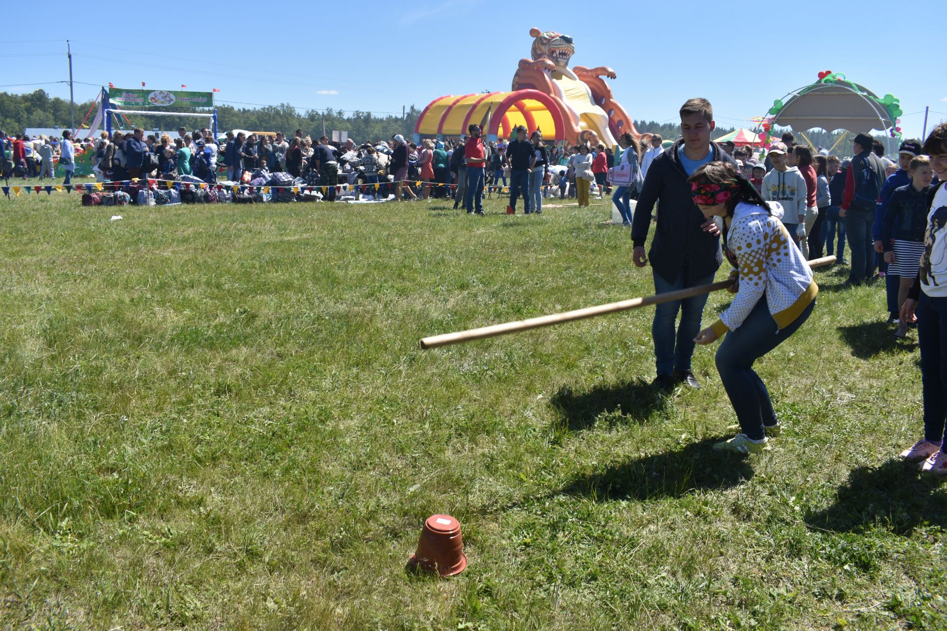
M 704 9 L 681 2 L 164 0 L 156 18 L 155 5 L 146 14 L 126 4 L 98 19 L 76 15 L 75 3 L 8 4 L 0 37 L 0 90 L 8 92 L 42 87 L 68 97 L 63 83 L 9 85 L 68 79 L 68 38 L 76 81 L 145 81 L 155 89 L 184 83 L 219 88 L 218 100 L 235 104 L 400 113 L 437 96 L 509 90 L 536 26 L 575 39 L 572 65 L 614 68 L 612 90 L 636 119 L 673 120 L 689 97 L 706 96 L 718 124 L 749 126 L 744 119 L 765 114 L 775 98 L 832 70 L 901 98 L 905 136 L 920 136 L 924 106 L 932 111 L 928 130 L 947 120 L 947 69 L 925 41 L 930 31 L 916 26 L 919 11 L 902 18 L 897 6 L 878 0 L 862 0 L 858 11 L 808 0 L 779 3 L 783 9 L 745 0 Z M 615 6 L 627 7 L 625 15 L 609 9 Z M 50 18 L 60 15 L 74 17 Z M 217 25 L 214 44 L 207 25 Z M 873 44 L 856 44 L 861 32 Z M 911 41 L 915 50 L 899 58 Z M 95 93 L 93 85 L 76 85 L 77 100 Z

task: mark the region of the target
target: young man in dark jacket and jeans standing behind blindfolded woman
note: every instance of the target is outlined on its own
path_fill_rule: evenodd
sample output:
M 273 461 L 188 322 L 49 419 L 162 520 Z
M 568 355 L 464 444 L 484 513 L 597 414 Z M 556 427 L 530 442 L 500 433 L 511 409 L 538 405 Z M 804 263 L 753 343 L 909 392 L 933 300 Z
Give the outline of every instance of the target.
M 683 138 L 654 158 L 634 209 L 634 265 L 643 268 L 651 258 L 655 293 L 712 283 L 723 261 L 720 231 L 712 219 L 704 218 L 691 199 L 688 177 L 708 162 L 721 160 L 734 167 L 736 162 L 710 141 L 716 125 L 713 108 L 705 98 L 691 98 L 681 107 L 680 114 Z M 646 256 L 645 241 L 655 202 L 660 202 L 661 212 L 651 251 Z M 655 308 L 652 324 L 657 366 L 655 387 L 664 390 L 683 381 L 691 388 L 700 388 L 700 382 L 690 369 L 690 360 L 706 301 L 707 294 L 703 294 Z M 679 310 L 681 324 L 675 336 L 674 324 Z

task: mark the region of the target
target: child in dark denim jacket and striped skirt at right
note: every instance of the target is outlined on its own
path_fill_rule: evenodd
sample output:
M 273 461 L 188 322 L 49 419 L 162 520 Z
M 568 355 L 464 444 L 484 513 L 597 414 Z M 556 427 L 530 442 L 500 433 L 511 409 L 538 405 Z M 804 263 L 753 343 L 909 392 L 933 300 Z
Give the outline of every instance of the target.
M 908 164 L 911 184 L 896 188 L 887 202 L 882 222 L 884 262 L 888 274 L 900 279 L 898 287 L 898 309 L 901 310 L 907 291 L 918 274 L 920 255 L 924 253 L 924 230 L 927 227 L 927 193 L 930 189 L 931 162 L 919 155 Z M 900 321 L 896 338 L 907 334 L 907 323 Z

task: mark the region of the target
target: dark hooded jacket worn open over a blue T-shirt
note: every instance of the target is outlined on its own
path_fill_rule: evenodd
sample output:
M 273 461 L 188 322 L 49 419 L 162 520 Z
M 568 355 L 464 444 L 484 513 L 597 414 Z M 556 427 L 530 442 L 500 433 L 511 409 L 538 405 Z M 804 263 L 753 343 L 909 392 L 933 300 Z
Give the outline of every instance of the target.
M 716 143 L 710 143 L 713 160 L 723 160 L 734 167 L 736 161 Z M 657 226 L 651 251 L 652 269 L 661 278 L 673 283 L 684 272 L 687 285 L 716 272 L 724 260 L 720 237 L 701 229 L 706 222 L 704 213 L 693 202 L 688 184 L 688 173 L 678 158 L 684 140 L 665 149 L 654 158 L 645 184 L 634 208 L 632 241 L 634 247 L 644 247 L 651 228 L 654 203 L 660 201 Z

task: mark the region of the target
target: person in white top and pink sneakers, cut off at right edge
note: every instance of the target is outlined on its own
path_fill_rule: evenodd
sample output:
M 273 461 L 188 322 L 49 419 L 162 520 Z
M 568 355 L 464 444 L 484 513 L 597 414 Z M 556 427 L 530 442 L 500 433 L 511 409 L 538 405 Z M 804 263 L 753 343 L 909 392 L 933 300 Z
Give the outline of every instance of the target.
M 914 284 L 901 308 L 901 321 L 917 316 L 920 380 L 924 401 L 924 438 L 902 451 L 905 460 L 924 460 L 921 469 L 947 476 L 944 421 L 947 420 L 947 123 L 940 123 L 924 142 L 940 184 L 928 194 L 924 252 Z

